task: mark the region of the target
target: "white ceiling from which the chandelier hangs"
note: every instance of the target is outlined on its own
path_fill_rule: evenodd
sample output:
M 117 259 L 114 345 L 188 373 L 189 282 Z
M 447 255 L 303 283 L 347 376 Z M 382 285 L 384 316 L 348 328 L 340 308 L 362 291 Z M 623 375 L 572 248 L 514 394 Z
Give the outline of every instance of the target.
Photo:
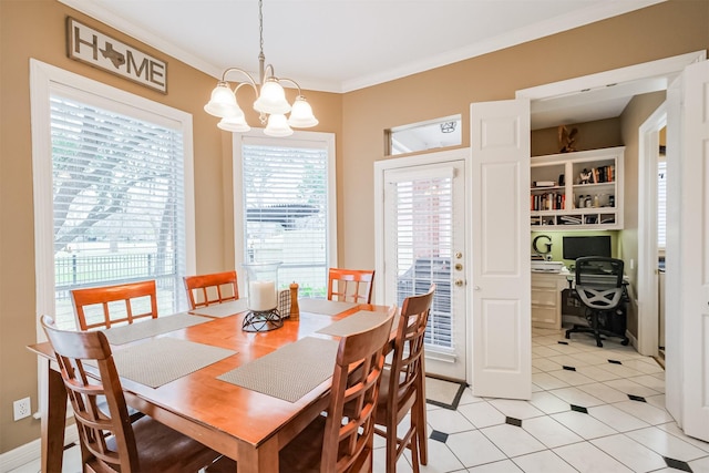
M 215 78 L 229 66 L 258 70 L 257 0 L 60 1 Z M 264 0 L 264 53 L 276 75 L 343 93 L 660 1 Z M 596 93 L 585 114 L 617 116 L 633 94 Z M 544 123 L 569 123 L 559 121 L 565 109 L 547 104 Z

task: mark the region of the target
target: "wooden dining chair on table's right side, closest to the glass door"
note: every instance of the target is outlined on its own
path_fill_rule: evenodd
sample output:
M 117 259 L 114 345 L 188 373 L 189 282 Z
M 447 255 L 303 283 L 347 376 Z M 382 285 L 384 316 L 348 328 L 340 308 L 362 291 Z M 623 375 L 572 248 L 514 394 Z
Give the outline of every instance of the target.
M 397 461 L 407 449 L 414 473 L 419 462 L 428 463 L 423 341 L 434 292 L 435 285 L 431 285 L 427 294 L 403 300 L 390 364 L 382 373 L 374 433 L 387 439 L 387 473 L 397 471 Z M 399 424 L 409 413 L 409 430 L 401 434 Z

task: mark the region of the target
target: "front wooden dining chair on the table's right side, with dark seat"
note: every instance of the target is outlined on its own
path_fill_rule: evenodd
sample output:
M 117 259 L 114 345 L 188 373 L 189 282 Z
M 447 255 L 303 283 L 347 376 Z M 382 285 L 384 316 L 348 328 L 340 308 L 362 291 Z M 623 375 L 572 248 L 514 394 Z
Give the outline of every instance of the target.
M 280 450 L 281 473 L 372 471 L 373 412 L 395 313 L 392 306 L 376 327 L 340 339 L 328 408 Z M 226 457 L 207 469 L 234 471 L 235 462 Z

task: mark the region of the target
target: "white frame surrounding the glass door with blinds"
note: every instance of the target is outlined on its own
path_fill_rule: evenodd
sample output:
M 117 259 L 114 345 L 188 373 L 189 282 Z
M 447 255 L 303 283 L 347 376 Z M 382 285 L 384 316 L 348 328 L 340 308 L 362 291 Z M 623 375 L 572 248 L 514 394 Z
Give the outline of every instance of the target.
M 386 261 L 384 261 L 384 174 L 387 171 L 400 169 L 404 167 L 424 166 L 431 164 L 445 164 L 454 161 L 462 161 L 465 165 L 465 175 L 463 176 L 464 198 L 465 205 L 470 205 L 471 202 L 471 183 L 472 183 L 472 166 L 471 166 L 471 152 L 470 147 L 461 147 L 446 151 L 435 151 L 431 153 L 417 154 L 413 156 L 403 156 L 391 160 L 383 160 L 374 162 L 374 270 L 382 275 L 380 278 L 374 278 L 374 294 L 373 300 L 376 304 L 382 304 L 384 295 L 386 278 Z M 464 213 L 464 246 L 463 251 L 463 267 L 467 268 L 464 271 L 464 280 L 470 280 L 470 268 L 472 264 L 472 257 L 470 255 L 472 248 L 471 241 L 471 213 Z M 465 291 L 465 353 L 467 359 L 465 360 L 465 381 L 472 380 L 472 331 L 471 331 L 471 295 L 470 291 Z

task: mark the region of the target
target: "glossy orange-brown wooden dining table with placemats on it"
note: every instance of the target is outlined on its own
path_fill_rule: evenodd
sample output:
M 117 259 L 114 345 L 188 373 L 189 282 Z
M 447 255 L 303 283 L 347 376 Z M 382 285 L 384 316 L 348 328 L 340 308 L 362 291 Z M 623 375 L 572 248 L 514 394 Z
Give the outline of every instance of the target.
M 299 320 L 286 318 L 282 327 L 263 332 L 243 330 L 244 311 L 228 316 L 220 313 L 203 323 L 112 346 L 115 357 L 121 350 L 146 340 L 172 338 L 235 352 L 157 388 L 122 376 L 126 403 L 236 460 L 240 473 L 278 472 L 279 450 L 327 409 L 331 379 L 327 378 L 301 398 L 288 401 L 218 378 L 305 338 L 337 340 L 338 337 L 319 330 L 362 311 L 382 312 L 383 317 L 388 309 L 373 305 L 357 305 L 341 311 L 338 311 L 341 306 L 333 308 L 330 308 L 330 313 L 301 309 Z M 42 471 L 61 472 L 66 391 L 49 342 L 28 348 L 50 364 L 44 393 L 47 402 L 42 412 Z M 145 363 L 151 363 L 151 360 L 145 360 Z

